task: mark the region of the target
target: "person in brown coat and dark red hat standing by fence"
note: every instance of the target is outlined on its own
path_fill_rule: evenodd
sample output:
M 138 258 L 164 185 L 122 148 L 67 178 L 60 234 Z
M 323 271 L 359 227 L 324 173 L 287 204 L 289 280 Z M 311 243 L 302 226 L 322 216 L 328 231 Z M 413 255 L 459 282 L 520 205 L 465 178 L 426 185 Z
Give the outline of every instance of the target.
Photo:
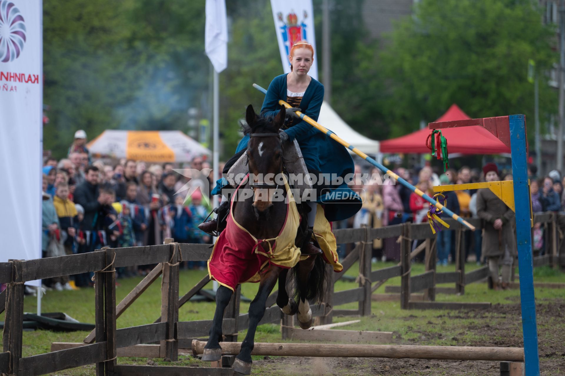
M 494 163 L 483 167 L 486 181 L 497 181 L 498 168 Z M 517 254 L 514 236 L 515 214 L 490 189 L 477 192 L 477 215 L 484 220 L 483 256 L 488 259 L 494 289 L 498 289 L 498 266 L 502 264 L 502 288 L 508 287 L 512 263 Z

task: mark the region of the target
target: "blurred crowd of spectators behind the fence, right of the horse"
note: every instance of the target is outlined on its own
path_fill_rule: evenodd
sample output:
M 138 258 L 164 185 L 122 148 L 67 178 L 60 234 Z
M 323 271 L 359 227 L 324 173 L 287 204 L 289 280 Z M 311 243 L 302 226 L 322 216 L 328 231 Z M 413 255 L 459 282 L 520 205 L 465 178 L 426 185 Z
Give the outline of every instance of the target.
M 494 167 L 493 163 L 489 164 Z M 492 170 L 492 168 L 491 168 Z M 360 172 L 361 168 L 356 166 L 356 172 Z M 367 171 L 371 174 L 379 174 L 379 170 Z M 420 169 L 407 169 L 398 167 L 394 172 L 411 183 L 421 191 L 428 193 L 433 197 L 436 192 L 432 191 L 433 186 L 445 184 L 466 184 L 478 183 L 485 181 L 485 172 L 480 168 L 470 168 L 463 166 L 459 170 L 448 169 L 446 172 L 437 173 L 431 167 L 424 166 Z M 501 171 L 498 174 L 496 168 L 495 180 L 512 180 L 512 175 Z M 565 192 L 563 185 L 565 184 L 565 177 L 562 176 L 557 170 L 551 171 L 549 175 L 542 178 L 536 176 L 537 169 L 535 166 L 529 166 L 528 176 L 531 179 L 531 196 L 532 196 L 532 211 L 538 213 L 542 211 L 564 211 L 565 210 Z M 382 175 L 381 175 L 382 176 Z M 374 180 L 374 179 L 373 179 Z M 380 227 L 390 224 L 398 224 L 405 222 L 427 222 L 429 204 L 416 193 L 410 191 L 404 185 L 395 184 L 390 180 L 384 180 L 383 184 L 357 184 L 354 186 L 360 195 L 364 197 L 363 208 L 355 215 L 354 218 L 349 219 L 345 224 L 336 223 L 334 227 L 358 227 L 362 224 L 367 224 L 371 227 Z M 444 192 L 446 199 L 445 205 L 448 209 L 463 218 L 479 217 L 489 222 L 492 219 L 493 229 L 502 231 L 499 227 L 500 223 L 511 223 L 512 230 L 514 229 L 514 215 L 513 213 L 501 213 L 498 217 L 494 218 L 489 210 L 496 211 L 498 208 L 493 209 L 493 203 L 490 202 L 490 207 L 485 206 L 484 197 L 478 195 L 480 189 L 464 189 L 462 191 L 449 191 Z M 440 197 L 443 199 L 442 197 Z M 500 200 L 498 200 L 500 201 Z M 502 201 L 500 201 L 502 204 Z M 504 204 L 498 210 L 510 210 Z M 445 214 L 443 217 L 447 217 Z M 507 219 L 506 217 L 511 217 Z M 559 216 L 563 218 L 565 216 Z M 496 222 L 496 226 L 494 225 Z M 565 230 L 565 220 L 559 222 L 559 226 Z M 493 230 L 491 229 L 491 230 Z M 485 226 L 485 231 L 486 229 Z M 533 250 L 540 254 L 544 254 L 546 244 L 544 244 L 544 228 L 540 223 L 536 223 L 533 228 Z M 475 261 L 477 264 L 489 263 L 489 252 L 491 249 L 498 250 L 501 247 L 498 241 L 498 235 L 492 239 L 484 240 L 483 231 L 466 231 L 464 232 L 464 256 L 465 261 Z M 383 239 L 375 240 L 373 242 L 373 262 L 377 260 L 399 260 L 400 248 L 396 241 L 397 239 Z M 490 244 L 490 242 L 496 244 Z M 447 265 L 455 261 L 455 236 L 453 231 L 439 231 L 437 233 L 437 263 L 440 265 Z M 412 249 L 414 250 L 419 243 L 414 241 Z M 498 252 L 498 251 L 497 251 Z M 340 247 L 338 249 L 340 258 L 345 257 L 346 248 Z M 486 254 L 485 254 L 486 253 Z M 420 253 L 420 257 L 423 254 Z M 503 256 L 502 256 L 503 257 Z M 418 261 L 418 258 L 416 258 Z M 420 258 L 421 260 L 421 258 Z M 507 257 L 508 260 L 508 257 Z M 505 261 L 507 262 L 507 261 Z M 503 264 L 505 265 L 505 264 Z M 503 274 L 504 269 L 503 269 Z

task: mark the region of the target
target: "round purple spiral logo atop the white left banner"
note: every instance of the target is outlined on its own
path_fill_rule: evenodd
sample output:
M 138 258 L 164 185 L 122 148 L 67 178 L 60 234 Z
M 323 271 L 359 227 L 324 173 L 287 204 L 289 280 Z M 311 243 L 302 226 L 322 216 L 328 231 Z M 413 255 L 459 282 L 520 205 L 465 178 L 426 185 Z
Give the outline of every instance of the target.
M 0 61 L 12 62 L 24 49 L 24 17 L 14 3 L 0 0 Z

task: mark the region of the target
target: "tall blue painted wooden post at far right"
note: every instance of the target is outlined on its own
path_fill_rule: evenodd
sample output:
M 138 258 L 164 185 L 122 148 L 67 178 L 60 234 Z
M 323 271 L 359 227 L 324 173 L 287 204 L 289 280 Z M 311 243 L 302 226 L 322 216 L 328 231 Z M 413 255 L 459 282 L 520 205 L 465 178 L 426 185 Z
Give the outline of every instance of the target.
M 524 115 L 510 115 L 510 150 L 514 177 L 516 206 L 516 243 L 520 270 L 520 302 L 524 334 L 526 376 L 540 375 L 537 345 L 536 300 L 533 291 L 532 234 L 528 192 L 528 154 L 526 152 L 526 123 Z

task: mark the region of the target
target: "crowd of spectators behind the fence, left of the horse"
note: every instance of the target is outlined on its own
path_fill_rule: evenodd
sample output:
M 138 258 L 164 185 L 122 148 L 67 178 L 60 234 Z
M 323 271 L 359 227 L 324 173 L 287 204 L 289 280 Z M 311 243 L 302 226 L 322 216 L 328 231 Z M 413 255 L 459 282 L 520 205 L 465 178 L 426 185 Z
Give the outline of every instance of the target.
M 162 244 L 166 237 L 211 243 L 211 237 L 197 228 L 211 211 L 210 197 L 203 197 L 200 190 L 185 197 L 182 188 L 190 179 L 173 171 L 176 167 L 186 166 L 93 159 L 86 133 L 77 131 L 67 158 L 44 161 L 43 257 Z M 190 167 L 210 166 L 195 157 Z M 181 267 L 204 269 L 205 263 L 184 262 Z M 150 268 L 122 267 L 117 276 L 146 275 Z M 44 280 L 44 287 L 57 290 L 91 285 L 89 273 Z

